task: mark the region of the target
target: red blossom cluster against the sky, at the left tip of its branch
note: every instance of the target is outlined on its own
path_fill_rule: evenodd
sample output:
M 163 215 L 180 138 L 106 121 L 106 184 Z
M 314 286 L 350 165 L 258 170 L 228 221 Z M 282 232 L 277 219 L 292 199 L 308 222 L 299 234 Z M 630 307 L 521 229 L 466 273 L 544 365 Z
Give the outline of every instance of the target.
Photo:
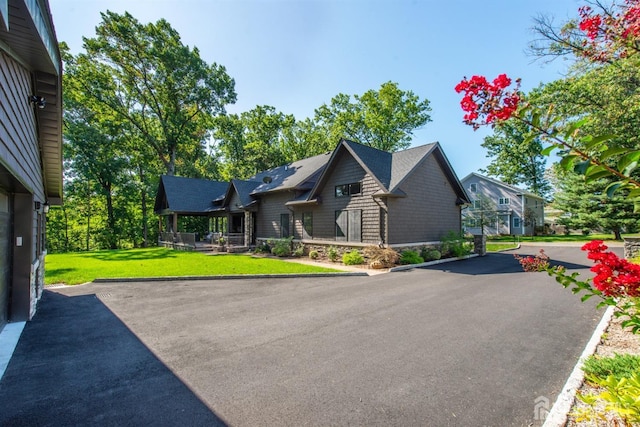
M 456 92 L 464 92 L 460 101 L 462 110 L 466 112 L 464 122 L 477 130 L 482 125 L 508 120 L 520 102 L 520 79 L 516 80 L 512 90 L 507 90 L 511 82 L 506 74 L 500 74 L 493 82 L 484 76 L 465 77 L 455 87 Z

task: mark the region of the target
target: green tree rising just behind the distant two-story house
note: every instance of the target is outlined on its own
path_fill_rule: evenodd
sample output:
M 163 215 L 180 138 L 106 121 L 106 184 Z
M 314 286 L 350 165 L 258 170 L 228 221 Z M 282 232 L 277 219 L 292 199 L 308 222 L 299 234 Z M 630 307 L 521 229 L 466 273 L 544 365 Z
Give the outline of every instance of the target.
M 541 154 L 542 141 L 530 138 L 529 129 L 521 122 L 502 122 L 493 128 L 493 135 L 484 138 L 491 162 L 483 169 L 507 184 L 526 187 L 540 197 L 551 191 L 545 177 L 547 158 Z

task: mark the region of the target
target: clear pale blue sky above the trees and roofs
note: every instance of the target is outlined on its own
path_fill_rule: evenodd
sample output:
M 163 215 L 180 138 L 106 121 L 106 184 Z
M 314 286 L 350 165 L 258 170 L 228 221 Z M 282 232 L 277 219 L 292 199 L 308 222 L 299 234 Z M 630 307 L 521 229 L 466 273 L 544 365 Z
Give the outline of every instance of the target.
M 413 145 L 439 141 L 460 178 L 486 167 L 480 146 L 489 129 L 462 123 L 464 77 L 500 73 L 528 91 L 561 78 L 567 62 L 526 54 L 539 15 L 564 22 L 578 0 L 49 0 L 58 40 L 73 53 L 93 37 L 100 12 L 128 11 L 142 23 L 165 18 L 183 43 L 236 82 L 239 113 L 271 105 L 296 119 L 338 93 L 362 94 L 397 82 L 431 103 L 432 121 Z M 337 141 L 336 141 L 337 143 Z

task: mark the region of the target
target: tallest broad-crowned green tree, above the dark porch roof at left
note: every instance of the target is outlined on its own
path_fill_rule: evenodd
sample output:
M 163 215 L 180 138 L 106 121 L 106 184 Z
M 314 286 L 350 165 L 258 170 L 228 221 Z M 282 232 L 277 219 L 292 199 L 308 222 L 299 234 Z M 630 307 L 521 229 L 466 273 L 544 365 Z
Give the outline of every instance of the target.
M 173 175 L 181 156 L 200 152 L 212 118 L 235 102 L 234 81 L 164 19 L 143 25 L 129 13 L 101 15 L 86 52 L 66 64 L 69 80 L 89 108 L 99 104 L 129 122 Z

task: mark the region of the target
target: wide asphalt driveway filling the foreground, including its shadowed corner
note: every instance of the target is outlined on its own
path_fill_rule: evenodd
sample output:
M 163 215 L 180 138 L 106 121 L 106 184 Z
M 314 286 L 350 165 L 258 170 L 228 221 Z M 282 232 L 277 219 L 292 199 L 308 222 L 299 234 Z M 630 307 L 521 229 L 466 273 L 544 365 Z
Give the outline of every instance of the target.
M 587 265 L 577 248 L 547 253 Z M 371 277 L 48 290 L 0 381 L 0 425 L 537 425 L 594 303 L 510 253 Z

